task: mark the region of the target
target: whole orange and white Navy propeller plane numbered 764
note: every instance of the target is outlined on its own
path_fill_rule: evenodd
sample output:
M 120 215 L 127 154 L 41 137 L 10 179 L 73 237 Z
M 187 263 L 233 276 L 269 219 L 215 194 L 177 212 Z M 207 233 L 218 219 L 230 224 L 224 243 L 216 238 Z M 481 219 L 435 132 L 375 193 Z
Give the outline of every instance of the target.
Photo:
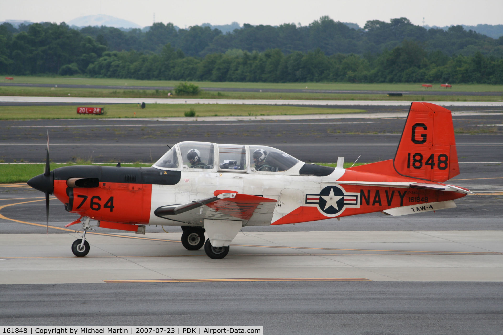
M 182 245 L 224 258 L 245 226 L 383 212 L 415 214 L 456 207 L 473 194 L 443 182 L 459 174 L 451 111 L 412 102 L 395 158 L 343 168 L 303 163 L 258 145 L 181 142 L 152 167 L 65 166 L 28 184 L 80 217 L 83 233 L 72 245 L 86 256 L 86 232 L 97 226 L 144 234 L 145 225 L 181 226 Z M 205 238 L 206 234 L 206 238 Z M 206 241 L 206 242 L 205 242 Z

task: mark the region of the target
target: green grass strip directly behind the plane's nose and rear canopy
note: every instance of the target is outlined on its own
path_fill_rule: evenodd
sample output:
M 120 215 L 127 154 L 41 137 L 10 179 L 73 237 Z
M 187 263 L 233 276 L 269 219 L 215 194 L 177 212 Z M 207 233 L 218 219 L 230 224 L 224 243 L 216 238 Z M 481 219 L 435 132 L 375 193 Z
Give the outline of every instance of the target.
M 62 167 L 62 166 L 70 166 L 70 165 L 101 165 L 101 166 L 115 166 L 117 163 L 111 164 L 93 164 L 89 161 L 87 162 L 77 162 L 75 163 L 64 163 L 64 164 L 56 164 L 51 163 L 51 170 Z M 326 165 L 335 167 L 337 163 L 317 163 L 319 165 Z M 356 163 L 355 166 L 363 165 L 366 163 Z M 149 167 L 152 166 L 151 163 L 122 163 L 122 166 L 128 167 Z M 344 168 L 349 168 L 352 163 L 344 163 Z M 30 178 L 35 177 L 44 172 L 45 164 L 0 164 L 0 184 L 7 183 L 24 183 L 27 182 Z

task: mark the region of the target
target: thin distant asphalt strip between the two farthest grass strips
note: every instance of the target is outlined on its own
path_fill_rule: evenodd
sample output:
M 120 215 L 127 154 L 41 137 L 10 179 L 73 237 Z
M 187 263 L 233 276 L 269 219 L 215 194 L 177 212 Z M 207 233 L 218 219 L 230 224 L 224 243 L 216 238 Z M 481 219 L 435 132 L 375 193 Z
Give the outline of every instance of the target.
M 27 83 L 0 83 L 1 86 L 18 87 L 59 87 L 59 88 L 94 88 L 94 89 L 138 89 L 138 90 L 173 90 L 174 86 L 122 86 L 122 85 L 71 85 L 71 84 L 27 84 Z M 419 85 L 417 85 L 420 87 Z M 272 88 L 223 88 L 223 87 L 201 87 L 205 91 L 212 92 L 276 92 L 276 93 L 329 93 L 329 94 L 383 94 L 402 93 L 403 95 L 480 95 L 480 96 L 500 96 L 501 92 L 463 92 L 454 91 L 452 88 L 442 90 L 421 89 L 417 91 L 376 91 L 376 90 L 341 90 L 341 89 L 272 89 Z

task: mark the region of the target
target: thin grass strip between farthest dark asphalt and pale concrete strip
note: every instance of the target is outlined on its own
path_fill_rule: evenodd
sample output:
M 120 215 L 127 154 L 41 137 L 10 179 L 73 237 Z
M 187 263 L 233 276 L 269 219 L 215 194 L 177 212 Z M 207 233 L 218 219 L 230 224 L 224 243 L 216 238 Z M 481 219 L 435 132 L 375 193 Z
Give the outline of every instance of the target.
M 0 86 L 3 96 L 74 96 L 116 98 L 168 98 L 167 90 L 19 87 Z M 334 93 L 280 93 L 280 92 L 213 92 L 202 91 L 196 96 L 172 95 L 173 98 L 203 99 L 287 99 L 287 100 L 389 100 L 389 101 L 503 101 L 501 96 L 484 95 L 408 95 L 387 96 L 382 94 L 334 94 Z

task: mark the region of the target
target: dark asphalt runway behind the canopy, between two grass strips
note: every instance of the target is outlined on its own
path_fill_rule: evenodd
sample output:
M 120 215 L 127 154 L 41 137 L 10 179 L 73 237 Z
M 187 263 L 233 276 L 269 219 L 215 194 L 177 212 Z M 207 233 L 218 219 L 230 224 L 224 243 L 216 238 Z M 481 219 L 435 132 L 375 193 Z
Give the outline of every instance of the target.
M 367 108 L 365 106 L 364 108 Z M 375 162 L 394 156 L 406 108 L 372 106 L 369 113 L 323 116 L 323 119 L 181 121 L 182 119 L 35 120 L 0 122 L 0 159 L 41 162 L 47 131 L 51 160 L 77 158 L 95 162 L 155 162 L 167 145 L 182 141 L 277 147 L 305 162 Z M 501 161 L 503 113 L 500 107 L 452 107 L 460 162 Z M 393 115 L 395 117 L 376 117 Z M 144 116 L 147 116 L 145 114 Z M 295 117 L 293 117 L 295 118 Z M 225 118 L 222 118 L 222 120 Z M 127 150 L 124 150 L 127 148 Z

